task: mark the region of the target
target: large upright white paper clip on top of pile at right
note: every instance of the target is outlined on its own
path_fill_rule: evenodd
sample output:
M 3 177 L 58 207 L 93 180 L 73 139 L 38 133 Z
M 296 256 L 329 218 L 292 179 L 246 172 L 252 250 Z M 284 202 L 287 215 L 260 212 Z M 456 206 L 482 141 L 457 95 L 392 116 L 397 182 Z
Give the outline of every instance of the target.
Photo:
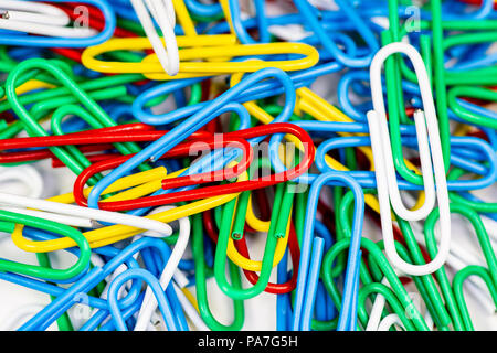
M 408 210 L 401 200 L 393 164 L 390 135 L 387 126 L 387 114 L 381 85 L 381 67 L 385 58 L 393 53 L 403 53 L 411 60 L 417 76 L 421 98 L 424 107 L 424 113 L 422 110 L 414 113 L 417 146 L 420 150 L 421 169 L 425 191 L 425 202 L 419 210 L 415 211 Z M 412 45 L 406 43 L 391 43 L 383 46 L 374 55 L 370 68 L 370 79 L 374 110 L 368 111 L 367 117 L 374 159 L 378 199 L 380 202 L 381 227 L 383 232 L 385 253 L 391 264 L 405 274 L 413 276 L 432 274 L 444 265 L 448 256 L 451 247 L 451 213 L 435 105 L 433 101 L 426 68 L 420 53 Z M 429 136 L 426 136 L 426 127 Z M 420 221 L 425 218 L 435 205 L 435 183 L 433 180 L 433 173 L 435 174 L 436 181 L 436 200 L 440 208 L 442 233 L 438 253 L 429 264 L 408 264 L 395 250 L 390 204 L 399 217 L 403 220 Z

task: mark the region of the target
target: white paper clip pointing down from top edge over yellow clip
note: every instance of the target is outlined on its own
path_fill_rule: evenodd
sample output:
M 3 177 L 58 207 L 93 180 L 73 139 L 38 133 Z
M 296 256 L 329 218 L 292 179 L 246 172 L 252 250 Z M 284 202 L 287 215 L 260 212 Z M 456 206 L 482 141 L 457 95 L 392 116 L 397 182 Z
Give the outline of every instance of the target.
M 179 52 L 176 43 L 176 13 L 170 0 L 131 0 L 138 19 L 150 41 L 157 58 L 169 76 L 179 72 Z M 159 25 L 166 46 L 157 34 L 152 18 Z

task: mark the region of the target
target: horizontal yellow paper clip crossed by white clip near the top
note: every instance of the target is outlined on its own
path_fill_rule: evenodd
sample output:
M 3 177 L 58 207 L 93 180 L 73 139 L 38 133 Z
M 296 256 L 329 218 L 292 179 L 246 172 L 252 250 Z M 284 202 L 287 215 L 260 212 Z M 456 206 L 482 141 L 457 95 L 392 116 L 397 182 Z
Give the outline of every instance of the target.
M 236 44 L 233 35 L 192 35 L 177 38 L 179 51 L 179 73 L 170 76 L 163 73 L 156 54 L 146 56 L 139 63 L 109 62 L 96 58 L 97 55 L 119 50 L 145 50 L 150 47 L 147 38 L 112 39 L 105 43 L 87 47 L 82 55 L 83 64 L 102 73 L 140 73 L 149 79 L 181 79 L 191 77 L 215 76 L 220 74 L 248 73 L 262 68 L 277 67 L 284 71 L 299 71 L 314 66 L 319 61 L 319 54 L 314 46 L 304 43 L 267 43 L 267 44 Z M 226 61 L 229 57 L 252 58 L 257 55 L 279 54 L 290 56 L 288 60 L 245 60 Z M 295 57 L 293 54 L 295 54 Z M 302 57 L 304 56 L 304 57 Z M 271 57 L 271 56 L 269 56 Z M 285 56 L 287 57 L 287 56 Z M 199 60 L 202 60 L 199 62 Z M 222 61 L 220 61 L 222 60 Z

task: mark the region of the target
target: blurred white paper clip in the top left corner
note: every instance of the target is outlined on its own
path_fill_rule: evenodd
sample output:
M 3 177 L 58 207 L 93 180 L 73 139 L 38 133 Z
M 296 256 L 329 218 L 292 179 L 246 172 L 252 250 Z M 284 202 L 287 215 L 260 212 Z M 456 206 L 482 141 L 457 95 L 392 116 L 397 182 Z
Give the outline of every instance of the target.
M 36 2 L 2 0 L 0 29 L 46 36 L 89 38 L 98 32 L 91 28 L 68 26 L 70 17 L 57 7 Z

